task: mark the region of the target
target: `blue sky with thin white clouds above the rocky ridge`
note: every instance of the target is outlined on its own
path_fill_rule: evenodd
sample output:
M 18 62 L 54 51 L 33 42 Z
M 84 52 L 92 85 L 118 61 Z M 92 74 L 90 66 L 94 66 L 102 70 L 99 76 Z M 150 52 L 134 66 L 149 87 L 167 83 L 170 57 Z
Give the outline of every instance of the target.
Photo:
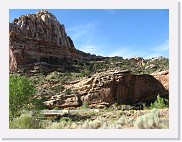
M 37 10 L 10 10 L 10 22 Z M 169 57 L 166 9 L 49 10 L 65 25 L 75 47 L 87 53 L 124 58 Z

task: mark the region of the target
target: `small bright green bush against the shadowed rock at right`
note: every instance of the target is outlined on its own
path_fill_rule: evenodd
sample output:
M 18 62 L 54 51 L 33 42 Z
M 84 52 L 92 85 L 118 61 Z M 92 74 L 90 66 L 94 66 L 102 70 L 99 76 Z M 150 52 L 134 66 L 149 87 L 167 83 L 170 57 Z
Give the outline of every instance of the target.
M 156 101 L 150 104 L 150 109 L 162 109 L 165 107 L 168 107 L 168 101 L 164 98 L 161 98 L 159 95 L 157 96 Z

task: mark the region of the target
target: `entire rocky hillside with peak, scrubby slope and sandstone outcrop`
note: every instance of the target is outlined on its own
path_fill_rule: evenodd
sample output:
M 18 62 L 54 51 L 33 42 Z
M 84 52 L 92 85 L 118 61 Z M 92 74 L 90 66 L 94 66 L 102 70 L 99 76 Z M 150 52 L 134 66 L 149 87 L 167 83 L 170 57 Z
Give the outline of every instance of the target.
M 47 10 L 22 15 L 9 25 L 10 75 L 25 76 L 35 86 L 23 106 L 32 107 L 35 101 L 41 109 L 50 110 L 86 105 L 103 111 L 124 106 L 129 111 L 149 106 L 158 95 L 169 98 L 167 58 L 124 59 L 84 53 Z

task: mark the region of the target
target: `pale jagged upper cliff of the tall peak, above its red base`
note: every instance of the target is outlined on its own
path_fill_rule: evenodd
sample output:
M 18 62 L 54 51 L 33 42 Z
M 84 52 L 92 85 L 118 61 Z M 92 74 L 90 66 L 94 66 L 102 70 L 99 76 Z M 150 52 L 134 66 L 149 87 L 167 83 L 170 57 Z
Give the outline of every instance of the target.
M 9 30 L 24 37 L 74 48 L 73 41 L 67 36 L 64 25 L 60 24 L 56 17 L 47 10 L 15 18 L 10 23 Z

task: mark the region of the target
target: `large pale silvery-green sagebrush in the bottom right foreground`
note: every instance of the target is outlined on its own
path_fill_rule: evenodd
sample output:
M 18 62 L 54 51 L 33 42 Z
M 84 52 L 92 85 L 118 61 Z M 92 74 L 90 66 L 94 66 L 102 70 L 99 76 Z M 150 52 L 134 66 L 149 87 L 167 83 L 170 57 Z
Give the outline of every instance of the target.
M 161 129 L 164 128 L 164 121 L 160 116 L 159 110 L 153 109 L 137 118 L 134 126 L 141 129 Z

